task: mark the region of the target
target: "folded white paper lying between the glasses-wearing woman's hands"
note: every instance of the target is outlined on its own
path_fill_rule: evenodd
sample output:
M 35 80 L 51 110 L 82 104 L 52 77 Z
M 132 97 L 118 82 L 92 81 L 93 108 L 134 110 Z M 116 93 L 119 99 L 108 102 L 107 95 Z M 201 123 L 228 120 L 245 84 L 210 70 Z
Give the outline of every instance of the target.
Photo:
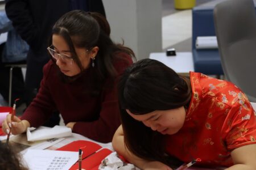
M 50 129 L 38 128 L 27 129 L 27 141 L 39 141 L 51 138 L 63 138 L 72 135 L 71 128 L 66 126 L 54 126 Z M 33 130 L 33 131 L 32 131 Z

